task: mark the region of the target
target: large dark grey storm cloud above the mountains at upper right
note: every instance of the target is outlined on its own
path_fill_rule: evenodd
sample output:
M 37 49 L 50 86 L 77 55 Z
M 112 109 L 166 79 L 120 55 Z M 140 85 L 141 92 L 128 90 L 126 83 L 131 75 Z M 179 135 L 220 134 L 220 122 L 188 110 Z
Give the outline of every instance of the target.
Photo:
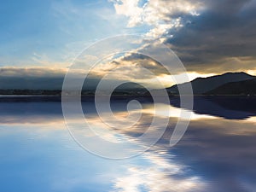
M 203 1 L 198 17 L 167 38 L 189 71 L 220 73 L 256 67 L 256 1 Z M 234 58 L 239 61 L 234 62 Z M 245 61 L 246 60 L 246 61 Z M 231 65 L 231 66 L 230 66 Z

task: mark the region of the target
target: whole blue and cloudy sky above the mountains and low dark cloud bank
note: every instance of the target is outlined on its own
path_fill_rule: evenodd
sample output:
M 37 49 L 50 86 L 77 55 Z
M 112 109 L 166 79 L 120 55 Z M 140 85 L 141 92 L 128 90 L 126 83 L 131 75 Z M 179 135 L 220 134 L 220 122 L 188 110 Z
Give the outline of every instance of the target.
M 4 1 L 0 77 L 63 76 L 84 48 L 125 34 L 165 44 L 183 62 L 189 79 L 241 71 L 256 75 L 255 9 L 256 0 Z M 137 54 L 114 57 L 104 64 L 105 71 L 99 67 L 92 76 L 112 70 L 113 63 L 130 67 L 130 74 L 149 63 L 157 79 L 173 84 L 170 74 L 155 69 L 157 61 Z M 121 70 L 113 79 L 124 76 Z

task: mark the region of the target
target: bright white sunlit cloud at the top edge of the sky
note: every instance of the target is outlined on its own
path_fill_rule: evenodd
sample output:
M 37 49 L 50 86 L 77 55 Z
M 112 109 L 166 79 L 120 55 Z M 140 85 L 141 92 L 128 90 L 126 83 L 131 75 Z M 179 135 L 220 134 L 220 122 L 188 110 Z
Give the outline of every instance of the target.
M 172 28 L 183 26 L 183 16 L 199 15 L 203 8 L 200 1 L 149 0 L 139 6 L 139 0 L 111 0 L 118 15 L 128 17 L 128 27 L 138 25 L 153 26 L 148 36 L 159 38 Z

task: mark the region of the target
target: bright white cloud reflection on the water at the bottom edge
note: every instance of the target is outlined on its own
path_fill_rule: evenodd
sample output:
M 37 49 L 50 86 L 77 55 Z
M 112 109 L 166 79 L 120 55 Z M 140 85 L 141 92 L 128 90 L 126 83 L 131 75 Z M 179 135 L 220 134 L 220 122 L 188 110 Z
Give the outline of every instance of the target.
M 168 155 L 170 156 L 170 154 Z M 200 191 L 204 189 L 201 177 L 189 168 L 166 159 L 166 154 L 143 154 L 141 165 L 130 165 L 123 176 L 114 180 L 117 191 Z M 145 161 L 148 164 L 145 164 Z

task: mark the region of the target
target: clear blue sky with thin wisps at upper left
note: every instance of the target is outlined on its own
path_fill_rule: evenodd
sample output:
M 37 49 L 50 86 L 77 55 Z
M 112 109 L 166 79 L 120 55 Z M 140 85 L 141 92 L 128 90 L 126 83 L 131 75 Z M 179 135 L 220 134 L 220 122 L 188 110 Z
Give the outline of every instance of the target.
M 125 17 L 115 15 L 113 3 L 93 0 L 4 1 L 0 27 L 2 67 L 66 65 L 98 39 L 141 31 L 127 28 Z

